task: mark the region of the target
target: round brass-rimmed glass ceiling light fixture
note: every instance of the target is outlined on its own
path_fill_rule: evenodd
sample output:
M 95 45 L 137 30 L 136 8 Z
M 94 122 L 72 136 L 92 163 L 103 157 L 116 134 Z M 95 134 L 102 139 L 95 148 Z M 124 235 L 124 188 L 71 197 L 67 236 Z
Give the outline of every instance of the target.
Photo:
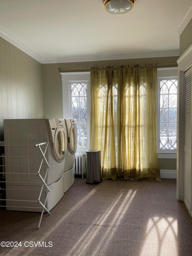
M 103 0 L 105 10 L 112 14 L 124 14 L 134 8 L 136 0 Z

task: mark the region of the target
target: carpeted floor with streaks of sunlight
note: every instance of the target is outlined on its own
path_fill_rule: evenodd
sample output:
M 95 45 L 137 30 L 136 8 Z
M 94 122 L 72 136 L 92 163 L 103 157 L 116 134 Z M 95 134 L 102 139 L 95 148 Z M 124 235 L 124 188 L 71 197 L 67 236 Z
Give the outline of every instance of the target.
M 39 230 L 40 213 L 1 208 L 0 242 L 21 243 L 0 255 L 192 255 L 192 218 L 176 199 L 176 179 L 85 181 L 75 179 Z

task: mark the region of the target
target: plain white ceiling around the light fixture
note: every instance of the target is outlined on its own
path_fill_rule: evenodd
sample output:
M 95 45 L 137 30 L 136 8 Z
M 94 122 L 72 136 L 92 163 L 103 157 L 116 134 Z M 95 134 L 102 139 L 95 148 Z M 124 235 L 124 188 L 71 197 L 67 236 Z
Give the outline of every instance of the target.
M 179 56 L 191 0 L 136 0 L 123 15 L 103 0 L 0 0 L 0 36 L 41 63 Z

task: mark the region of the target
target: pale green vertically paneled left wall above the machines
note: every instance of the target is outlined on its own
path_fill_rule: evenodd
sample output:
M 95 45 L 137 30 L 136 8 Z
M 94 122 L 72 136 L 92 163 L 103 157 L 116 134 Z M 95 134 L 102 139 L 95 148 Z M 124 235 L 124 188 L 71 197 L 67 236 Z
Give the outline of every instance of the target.
M 0 76 L 3 140 L 3 119 L 44 117 L 42 64 L 0 37 Z

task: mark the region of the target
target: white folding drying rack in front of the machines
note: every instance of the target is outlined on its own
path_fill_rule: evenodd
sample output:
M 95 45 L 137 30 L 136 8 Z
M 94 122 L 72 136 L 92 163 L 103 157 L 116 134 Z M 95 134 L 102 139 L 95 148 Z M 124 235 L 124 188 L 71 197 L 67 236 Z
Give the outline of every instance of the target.
M 42 206 L 42 212 L 41 212 L 41 217 L 40 217 L 40 221 L 39 221 L 39 224 L 38 224 L 38 229 L 40 227 L 40 224 L 41 224 L 41 219 L 43 217 L 43 213 L 44 213 L 44 210 L 46 212 L 48 212 L 50 214 L 50 212 L 48 211 L 48 209 L 46 208 L 46 201 L 47 201 L 47 197 L 48 197 L 48 194 L 50 192 L 50 189 L 49 187 L 47 186 L 45 180 L 46 180 L 46 176 L 47 176 L 47 173 L 48 173 L 48 170 L 50 168 L 47 160 L 46 160 L 46 157 L 45 157 L 45 153 L 46 153 L 46 150 L 47 150 L 47 146 L 48 146 L 48 143 L 49 141 L 47 142 L 42 142 L 42 143 L 38 143 L 38 144 L 35 144 L 34 142 L 15 142 L 15 141 L 0 141 L 0 146 L 26 146 L 26 147 L 38 147 L 38 149 L 40 150 L 41 152 L 41 155 L 40 158 L 42 158 L 41 160 L 41 163 L 40 163 L 40 166 L 18 166 L 18 165 L 1 165 L 1 166 L 4 166 L 4 167 L 37 167 L 38 168 L 38 172 L 37 173 L 10 173 L 10 172 L 0 172 L 2 174 L 27 174 L 27 175 L 36 175 L 36 176 L 39 176 L 40 179 L 41 179 L 41 182 L 42 182 L 42 186 L 41 186 L 41 189 L 40 189 L 40 193 L 39 193 L 39 197 L 38 197 L 38 200 L 15 200 L 15 199 L 0 199 L 0 201 L 25 201 L 25 202 L 37 202 L 39 203 L 41 206 Z M 45 150 L 44 152 L 42 151 L 41 149 L 41 146 L 42 145 L 45 145 L 46 144 L 46 147 L 45 147 Z M 0 156 L 2 158 L 4 157 L 19 157 L 19 158 L 37 158 L 36 156 L 9 156 L 9 155 L 5 155 L 5 156 Z M 43 164 L 43 160 L 45 160 L 47 166 L 45 166 L 46 168 L 46 172 L 45 172 L 45 177 L 43 179 L 43 177 L 41 176 L 40 174 L 40 171 L 41 171 L 41 167 L 42 167 L 42 164 Z M 2 182 L 6 182 L 6 181 L 2 181 Z M 27 183 L 27 182 L 17 182 L 17 183 Z M 29 182 L 31 183 L 31 182 Z M 35 183 L 35 182 L 33 182 Z M 40 183 L 40 182 L 36 182 L 36 183 Z M 43 190 L 43 188 L 45 187 L 45 190 Z M 0 188 L 0 190 L 10 190 L 9 188 L 6 189 L 6 188 Z M 12 190 L 12 189 L 11 189 Z M 19 189 L 19 188 L 13 188 L 13 190 L 28 190 L 28 189 Z M 30 189 L 30 191 L 32 191 Z M 46 191 L 46 197 L 45 197 L 45 202 L 42 203 L 41 200 L 40 200 L 40 197 L 41 197 L 41 194 L 42 194 L 42 191 Z M 6 207 L 4 205 L 0 205 L 0 207 Z M 14 206 L 14 207 L 19 207 L 19 208 L 22 208 L 22 206 Z M 32 207 L 32 206 L 23 206 L 24 208 L 37 208 L 37 207 Z

